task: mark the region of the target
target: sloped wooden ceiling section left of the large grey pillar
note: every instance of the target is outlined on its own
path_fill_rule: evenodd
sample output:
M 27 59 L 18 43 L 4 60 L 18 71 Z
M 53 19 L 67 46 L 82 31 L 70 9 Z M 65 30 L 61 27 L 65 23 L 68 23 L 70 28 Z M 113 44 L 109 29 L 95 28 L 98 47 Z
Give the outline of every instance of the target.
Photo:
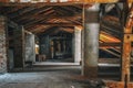
M 35 34 L 53 26 L 82 25 L 82 6 L 2 6 L 0 12 Z

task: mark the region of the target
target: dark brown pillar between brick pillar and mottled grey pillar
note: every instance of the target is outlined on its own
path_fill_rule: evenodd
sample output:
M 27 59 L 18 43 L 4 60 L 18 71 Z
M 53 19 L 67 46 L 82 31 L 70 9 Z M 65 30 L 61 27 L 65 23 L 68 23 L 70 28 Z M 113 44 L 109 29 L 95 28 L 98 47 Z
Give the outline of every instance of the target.
M 18 26 L 13 30 L 14 42 L 14 68 L 23 68 L 24 66 L 24 29 Z

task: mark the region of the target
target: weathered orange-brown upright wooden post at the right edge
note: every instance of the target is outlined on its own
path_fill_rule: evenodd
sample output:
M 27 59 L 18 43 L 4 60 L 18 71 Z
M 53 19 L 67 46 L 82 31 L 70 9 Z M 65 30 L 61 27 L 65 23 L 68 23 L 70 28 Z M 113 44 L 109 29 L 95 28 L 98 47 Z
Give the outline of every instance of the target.
M 122 54 L 122 81 L 130 82 L 130 65 L 131 65 L 131 42 L 133 42 L 133 6 L 127 16 L 126 25 L 124 29 L 124 37 L 123 37 L 123 54 Z M 125 84 L 125 85 L 126 85 Z

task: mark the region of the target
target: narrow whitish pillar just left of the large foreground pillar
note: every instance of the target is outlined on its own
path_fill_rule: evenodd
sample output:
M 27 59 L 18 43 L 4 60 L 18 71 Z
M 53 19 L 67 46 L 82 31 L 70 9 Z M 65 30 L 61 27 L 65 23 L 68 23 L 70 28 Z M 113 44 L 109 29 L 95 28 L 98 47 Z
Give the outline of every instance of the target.
M 81 28 L 74 29 L 74 63 L 81 62 Z

